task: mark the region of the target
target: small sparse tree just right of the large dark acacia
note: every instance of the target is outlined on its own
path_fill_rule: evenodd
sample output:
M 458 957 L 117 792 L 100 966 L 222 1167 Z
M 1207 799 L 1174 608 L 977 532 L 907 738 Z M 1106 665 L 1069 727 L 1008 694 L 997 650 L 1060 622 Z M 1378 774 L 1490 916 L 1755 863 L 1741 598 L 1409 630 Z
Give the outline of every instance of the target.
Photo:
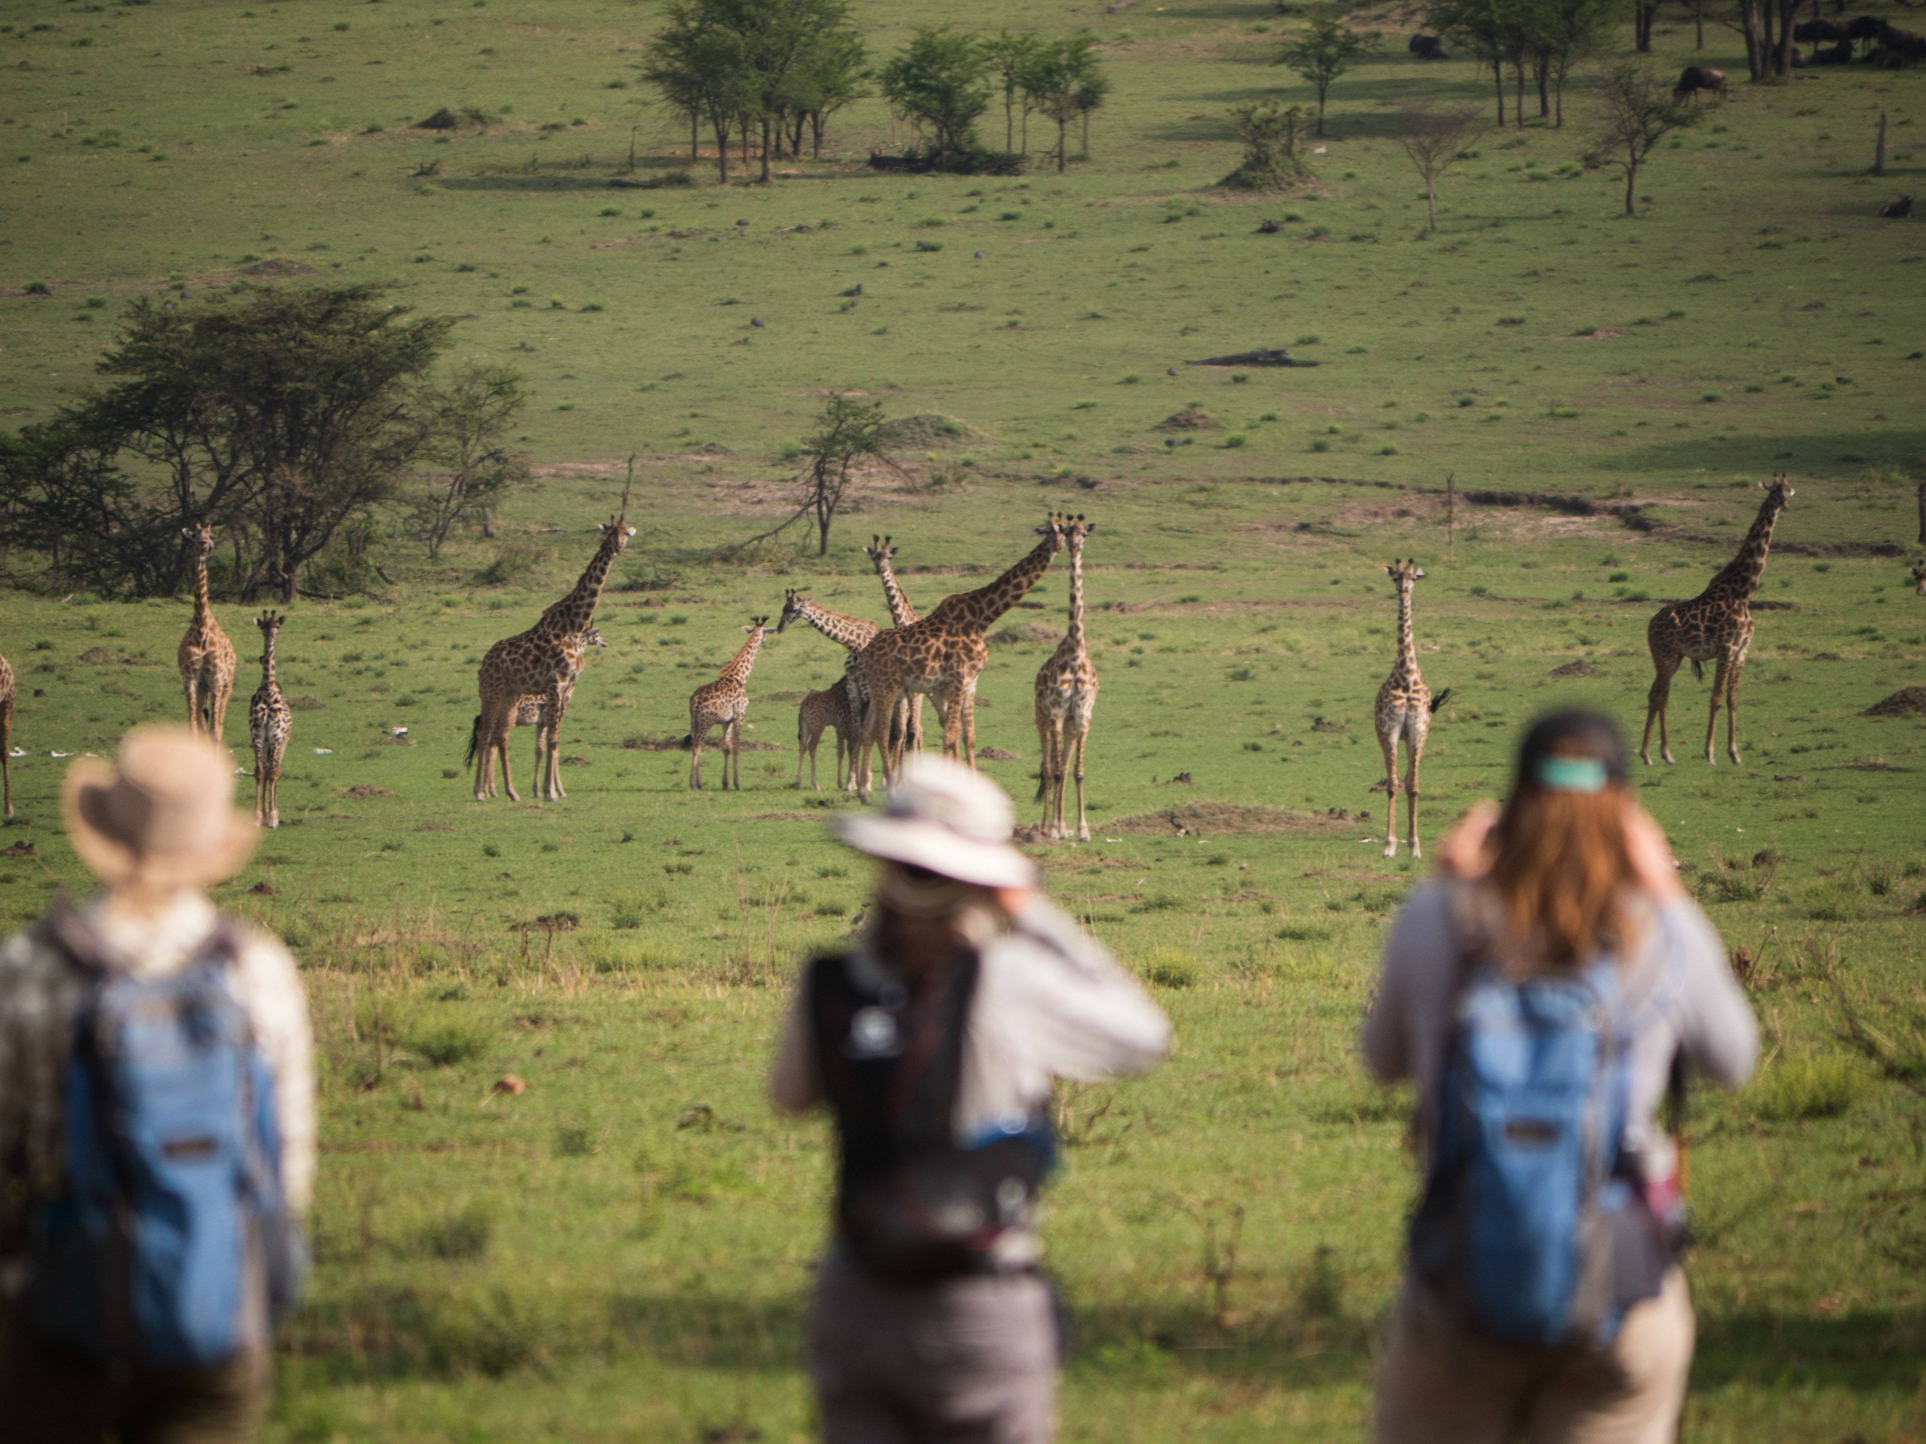
M 447 385 L 422 387 L 422 460 L 433 470 L 412 510 L 429 556 L 462 522 L 495 535 L 493 508 L 528 479 L 528 460 L 503 445 L 526 402 L 522 377 L 503 366 L 470 366 Z

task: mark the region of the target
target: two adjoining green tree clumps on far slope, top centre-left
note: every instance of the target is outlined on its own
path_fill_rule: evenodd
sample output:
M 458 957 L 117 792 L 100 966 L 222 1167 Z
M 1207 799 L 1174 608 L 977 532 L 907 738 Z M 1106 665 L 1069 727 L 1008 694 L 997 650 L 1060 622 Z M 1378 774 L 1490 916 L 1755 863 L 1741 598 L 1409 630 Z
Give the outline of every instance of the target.
M 724 185 L 732 142 L 743 164 L 755 150 L 759 179 L 768 181 L 784 152 L 803 154 L 805 131 L 819 156 L 830 116 L 876 92 L 938 168 L 980 154 L 976 123 L 1002 94 L 1003 154 L 1028 154 L 1028 121 L 1040 114 L 1057 127 L 1050 154 L 1063 169 L 1069 127 L 1082 123 L 1088 154 L 1090 114 L 1109 96 L 1090 37 L 919 29 L 899 54 L 871 65 L 846 0 L 672 0 L 641 71 L 686 121 L 691 160 L 707 127 Z

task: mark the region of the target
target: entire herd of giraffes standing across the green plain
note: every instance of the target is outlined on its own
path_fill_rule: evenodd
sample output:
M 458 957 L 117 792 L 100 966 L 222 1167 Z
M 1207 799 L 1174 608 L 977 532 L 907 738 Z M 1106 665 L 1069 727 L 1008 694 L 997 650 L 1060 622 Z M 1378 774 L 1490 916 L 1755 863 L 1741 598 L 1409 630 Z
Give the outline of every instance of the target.
M 1760 483 L 1766 497 L 1758 506 L 1745 541 L 1703 593 L 1691 601 L 1668 603 L 1647 626 L 1647 647 L 1653 657 L 1653 685 L 1647 695 L 1645 735 L 1639 757 L 1651 764 L 1653 724 L 1658 726 L 1658 747 L 1672 762 L 1666 734 L 1666 703 L 1672 678 L 1681 662 L 1691 662 L 1703 676 L 1705 662 L 1714 664 L 1712 703 L 1706 718 L 1705 761 L 1716 762 L 1714 737 L 1718 709 L 1726 707 L 1726 753 L 1739 762 L 1739 676 L 1753 641 L 1751 597 L 1766 570 L 1772 549 L 1772 529 L 1780 512 L 1793 499 L 1791 483 L 1780 476 Z M 942 749 L 967 766 L 976 764 L 976 682 L 988 660 L 990 628 L 1030 591 L 1050 568 L 1059 551 L 1069 551 L 1071 587 L 1069 622 L 1063 639 L 1036 672 L 1036 734 L 1038 787 L 1042 822 L 1040 839 L 1075 836 L 1090 839 L 1084 814 L 1084 745 L 1090 718 L 1096 710 L 1098 676 L 1090 662 L 1084 633 L 1084 541 L 1094 524 L 1082 516 L 1052 514 L 1038 528 L 1040 541 L 1009 570 L 988 585 L 946 597 L 938 606 L 919 616 L 896 578 L 892 537 L 872 537 L 871 564 L 882 580 L 884 601 L 892 626 L 882 628 L 859 616 L 834 612 L 790 589 L 784 597 L 776 632 L 790 622 L 807 622 L 830 641 L 844 647 L 844 676 L 822 691 L 811 691 L 797 709 L 795 786 L 803 786 L 803 759 L 809 759 L 809 782 L 817 784 L 817 747 L 824 732 L 836 734 L 836 786 L 871 795 L 871 755 L 882 757 L 884 784 L 896 780 L 907 749 L 923 745 L 923 699 L 930 697 L 942 722 Z M 560 601 L 541 612 L 535 626 L 512 637 L 503 637 L 482 658 L 482 710 L 474 720 L 468 761 L 476 766 L 476 801 L 495 795 L 495 762 L 501 762 L 501 787 L 520 801 L 508 776 L 508 735 L 516 726 L 535 730 L 535 795 L 543 801 L 566 797 L 560 780 L 560 728 L 582 676 L 589 647 L 609 643 L 595 630 L 595 605 L 601 599 L 609 568 L 628 547 L 636 528 L 628 526 L 628 493 L 622 510 L 601 528 L 601 541 L 576 585 Z M 221 739 L 227 701 L 235 685 L 235 647 L 221 630 L 208 595 L 208 556 L 214 551 L 214 531 L 202 524 L 185 528 L 195 576 L 195 605 L 187 633 L 181 637 L 179 670 L 187 697 L 189 728 Z M 1450 687 L 1433 695 L 1418 668 L 1418 647 L 1412 628 L 1412 593 L 1423 578 L 1416 560 L 1392 560 L 1387 568 L 1398 599 L 1398 651 L 1391 676 L 1377 689 L 1373 722 L 1385 753 L 1385 789 L 1389 816 L 1385 822 L 1385 857 L 1398 851 L 1396 812 L 1398 793 L 1406 799 L 1406 843 L 1412 857 L 1421 857 L 1418 839 L 1418 768 L 1423 759 L 1431 716 L 1450 697 Z M 1926 597 L 1926 560 L 1914 562 L 1913 581 Z M 248 737 L 254 745 L 254 816 L 264 828 L 279 826 L 281 761 L 295 726 L 287 697 L 275 676 L 275 633 L 285 616 L 266 610 L 256 618 L 262 633 L 262 682 L 248 705 Z M 768 635 L 768 618 L 757 616 L 743 628 L 749 639 L 722 674 L 690 695 L 690 787 L 703 786 L 701 759 L 707 737 L 722 728 L 722 786 L 730 780 L 742 789 L 742 730 L 749 712 L 749 674 L 757 653 Z M 13 816 L 13 776 L 10 766 L 13 734 L 13 668 L 0 657 L 0 791 L 6 816 Z M 1398 751 L 1406 755 L 1404 778 L 1398 778 Z M 1077 782 L 1077 826 L 1065 818 L 1067 787 Z

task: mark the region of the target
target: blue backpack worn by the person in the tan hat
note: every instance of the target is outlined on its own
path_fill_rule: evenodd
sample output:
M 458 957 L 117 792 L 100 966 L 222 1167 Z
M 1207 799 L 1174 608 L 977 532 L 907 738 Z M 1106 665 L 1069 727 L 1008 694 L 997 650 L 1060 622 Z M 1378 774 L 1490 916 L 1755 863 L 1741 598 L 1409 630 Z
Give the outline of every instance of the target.
M 33 1221 L 33 1332 L 154 1367 L 266 1346 L 304 1255 L 281 1199 L 273 1074 L 225 982 L 235 926 L 164 978 L 114 968 L 67 909 L 44 936 L 89 990 L 62 1078 L 65 1188 Z

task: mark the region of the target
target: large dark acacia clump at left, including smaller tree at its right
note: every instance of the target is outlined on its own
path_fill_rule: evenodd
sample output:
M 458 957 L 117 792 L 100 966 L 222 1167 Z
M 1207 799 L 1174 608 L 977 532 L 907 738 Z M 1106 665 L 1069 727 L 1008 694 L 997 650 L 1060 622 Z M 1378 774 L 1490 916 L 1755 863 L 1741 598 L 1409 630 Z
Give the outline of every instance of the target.
M 0 433 L 10 580 L 171 595 L 181 529 L 206 522 L 225 591 L 293 601 L 364 589 L 383 514 L 429 554 L 487 531 L 526 476 L 505 447 L 524 397 L 501 368 L 437 379 L 451 327 L 368 285 L 137 300 L 100 389 Z

